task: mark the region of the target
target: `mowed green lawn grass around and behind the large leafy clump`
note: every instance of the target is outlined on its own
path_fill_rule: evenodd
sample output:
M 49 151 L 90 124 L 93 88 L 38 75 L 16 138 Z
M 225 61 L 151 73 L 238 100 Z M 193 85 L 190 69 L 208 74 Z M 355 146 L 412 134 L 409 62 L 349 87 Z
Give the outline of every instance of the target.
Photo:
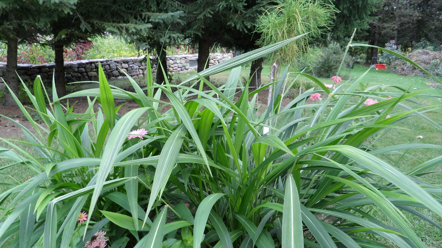
M 293 69 L 293 68 L 292 68 Z M 281 67 L 280 70 L 285 70 L 285 67 Z M 350 85 L 351 82 L 355 81 L 357 78 L 359 78 L 363 73 L 366 72 L 366 70 L 369 70 L 369 67 L 355 67 L 352 70 L 346 71 L 347 78 L 343 78 L 343 83 L 346 81 L 346 85 Z M 293 70 L 292 70 L 293 71 Z M 248 78 L 248 75 L 250 73 L 249 67 L 242 67 L 241 68 L 241 78 L 244 78 L 246 80 Z M 270 81 L 270 65 L 264 64 L 263 66 L 263 72 L 262 72 L 262 82 L 263 84 L 267 84 Z M 174 74 L 172 76 L 173 82 L 180 82 L 183 81 L 183 79 L 190 77 L 193 75 L 192 73 L 188 74 Z M 218 85 L 224 84 L 224 82 L 227 80 L 229 76 L 229 71 L 222 72 L 220 74 L 217 74 L 215 76 L 211 77 L 212 81 L 217 82 Z M 308 88 L 308 87 L 314 87 L 314 84 L 307 79 L 303 77 L 297 77 L 295 75 L 290 75 L 290 80 L 297 80 L 297 83 L 293 84 L 293 89 L 291 89 L 292 93 L 287 94 L 289 97 L 295 96 L 297 93 L 299 93 L 300 85 L 301 87 Z M 320 81 L 323 83 L 331 83 L 330 78 L 319 78 Z M 145 78 L 139 78 L 136 80 L 140 85 L 145 86 Z M 424 94 L 431 95 L 434 97 L 415 97 L 413 100 L 414 102 L 408 102 L 407 105 L 412 106 L 433 106 L 432 108 L 434 110 L 428 111 L 425 113 L 425 115 L 434 122 L 438 123 L 438 125 L 442 126 L 442 89 L 438 88 L 431 88 L 431 83 L 434 83 L 434 81 L 430 81 L 428 78 L 421 77 L 421 76 L 415 76 L 415 77 L 404 77 L 400 75 L 393 74 L 389 71 L 385 70 L 375 70 L 374 68 L 370 69 L 370 71 L 367 73 L 367 75 L 362 78 L 361 81 L 362 85 L 366 85 L 366 87 L 374 86 L 374 85 L 383 85 L 385 88 L 383 89 L 385 91 L 385 95 L 388 95 L 390 92 L 397 92 L 400 91 L 398 89 L 395 89 L 389 85 L 395 85 L 398 87 L 401 87 L 403 89 L 406 89 L 410 92 L 414 92 L 417 90 L 426 90 Z M 130 85 L 129 81 L 127 80 L 116 80 L 116 81 L 110 81 L 111 85 L 116 85 L 118 87 L 124 86 L 124 85 Z M 303 86 L 304 85 L 304 86 Z M 98 87 L 98 84 L 90 84 L 90 85 L 84 85 L 86 88 L 93 88 Z M 83 88 L 83 87 L 81 87 Z M 317 88 L 319 89 L 319 88 Z M 303 90 L 303 89 L 301 89 Z M 429 122 L 423 121 L 421 118 L 412 116 L 409 118 L 405 118 L 401 120 L 400 122 L 396 123 L 396 126 L 401 126 L 406 128 L 404 129 L 385 129 L 382 130 L 377 137 L 370 139 L 370 142 L 373 142 L 374 148 L 379 147 L 386 147 L 391 146 L 394 144 L 406 144 L 406 143 L 426 143 L 426 144 L 438 144 L 442 145 L 442 132 L 439 130 L 436 126 L 431 125 Z M 418 137 L 422 136 L 422 138 Z M 16 139 L 19 140 L 25 140 L 24 136 L 16 137 Z M 6 147 L 9 146 L 5 144 L 4 142 L 0 143 L 0 147 Z M 27 152 L 31 152 L 31 154 L 34 154 L 34 149 L 29 146 L 22 146 L 24 149 L 27 150 Z M 403 171 L 407 172 L 409 170 L 412 170 L 415 166 L 419 165 L 423 161 L 427 161 L 429 159 L 432 159 L 438 155 L 442 154 L 442 149 L 416 149 L 416 150 L 408 150 L 408 151 L 401 151 L 404 152 L 404 155 L 380 155 L 383 159 L 387 159 L 389 163 L 392 165 L 402 169 Z M 1 155 L 1 154 L 0 154 Z M 37 155 L 35 153 L 35 155 Z M 33 176 L 36 174 L 35 171 L 31 170 L 29 167 L 23 164 L 16 164 L 11 167 L 7 167 L 7 165 L 11 163 L 10 161 L 7 161 L 6 159 L 0 158 L 0 192 L 4 192 L 5 190 L 9 189 L 11 186 L 7 184 L 17 184 L 22 182 L 27 176 Z M 442 165 L 439 165 L 436 168 L 433 168 L 432 171 L 436 171 L 431 174 L 423 175 L 421 178 L 424 181 L 428 181 L 430 183 L 436 184 L 436 185 L 442 185 Z M 4 211 L 4 207 L 8 206 L 9 201 L 5 201 L 0 206 L 0 211 Z M 371 211 L 375 213 L 375 216 L 377 219 L 381 220 L 382 222 L 386 222 L 389 225 L 394 226 L 389 220 L 377 209 L 377 207 L 373 206 Z M 428 215 L 431 219 L 433 219 L 435 222 L 441 224 L 442 218 L 438 215 L 435 215 L 431 213 L 430 211 L 419 210 L 422 211 L 423 214 Z M 418 236 L 422 238 L 422 240 L 428 245 L 430 248 L 440 248 L 442 247 L 442 231 L 435 228 L 434 226 L 431 226 L 427 222 L 423 221 L 420 218 L 414 217 L 414 215 L 409 214 L 408 212 L 404 212 L 404 215 L 410 222 L 410 225 L 412 226 L 412 229 L 415 230 L 416 233 L 418 233 Z M 0 219 L 2 221 L 2 219 Z M 367 234 L 367 237 L 372 236 L 372 234 Z M 370 238 L 375 238 L 370 237 Z M 378 237 L 377 237 L 378 238 Z M 390 246 L 390 244 L 386 243 L 386 245 Z

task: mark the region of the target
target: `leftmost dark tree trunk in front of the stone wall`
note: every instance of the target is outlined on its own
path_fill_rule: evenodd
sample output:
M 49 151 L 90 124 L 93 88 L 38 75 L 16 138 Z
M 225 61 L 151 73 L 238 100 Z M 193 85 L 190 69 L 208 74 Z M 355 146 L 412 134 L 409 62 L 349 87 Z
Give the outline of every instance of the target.
M 15 23 L 15 16 L 11 12 L 8 12 L 8 22 L 12 23 L 13 29 L 11 30 L 11 37 L 8 39 L 8 51 L 6 52 L 8 58 L 6 59 L 6 83 L 9 88 L 11 88 L 12 93 L 15 96 L 19 96 L 19 79 L 16 73 L 17 70 L 17 52 L 18 52 L 18 40 L 15 37 L 15 29 L 17 28 L 17 23 Z M 14 98 L 12 97 L 9 90 L 5 92 L 4 105 L 15 106 Z

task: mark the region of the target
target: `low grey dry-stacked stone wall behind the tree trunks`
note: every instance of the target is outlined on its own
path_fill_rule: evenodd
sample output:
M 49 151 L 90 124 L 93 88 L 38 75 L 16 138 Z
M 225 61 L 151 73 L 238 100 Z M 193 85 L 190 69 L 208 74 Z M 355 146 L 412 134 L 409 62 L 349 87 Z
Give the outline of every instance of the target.
M 209 66 L 217 65 L 233 57 L 232 53 L 215 53 L 210 55 Z M 196 70 L 198 54 L 167 56 L 168 73 L 186 73 Z M 152 74 L 156 71 L 156 58 L 149 57 L 152 65 Z M 126 78 L 123 71 L 132 78 L 142 78 L 147 75 L 145 57 L 131 57 L 121 59 L 90 59 L 73 62 L 65 62 L 65 80 L 66 82 L 78 81 L 98 81 L 98 66 L 101 63 L 104 74 L 109 80 Z M 43 82 L 51 83 L 55 63 L 45 63 L 38 65 L 18 64 L 17 73 L 23 81 L 34 80 L 40 75 Z M 121 69 L 121 70 L 120 70 Z M 6 74 L 6 63 L 0 62 L 0 77 Z

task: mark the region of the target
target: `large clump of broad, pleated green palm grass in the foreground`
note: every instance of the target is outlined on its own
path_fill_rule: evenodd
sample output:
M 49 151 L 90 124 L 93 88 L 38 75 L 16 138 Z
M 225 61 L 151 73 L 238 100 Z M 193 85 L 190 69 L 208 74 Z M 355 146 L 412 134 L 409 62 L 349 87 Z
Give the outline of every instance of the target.
M 141 89 L 131 81 L 135 93 L 111 88 L 100 69 L 99 89 L 64 97 L 91 99 L 84 114 L 61 106 L 56 92 L 46 107 L 36 80 L 28 94 L 49 129 L 30 119 L 40 130 L 34 136 L 22 126 L 24 143 L 38 158 L 2 139 L 16 148 L 0 148 L 10 166 L 26 164 L 39 174 L 1 192 L 0 203 L 8 204 L 0 246 L 15 234 L 10 247 L 88 247 L 102 230 L 109 247 L 388 247 L 364 233 L 398 247 L 426 247 L 402 211 L 442 229 L 419 211 L 442 216 L 441 185 L 419 178 L 442 156 L 403 171 L 379 155 L 442 147 L 373 148 L 367 140 L 400 129 L 411 116 L 440 130 L 425 115 L 434 107 L 404 104 L 424 92 L 392 87 L 389 98 L 381 86 L 359 88 L 364 75 L 345 90 L 341 83 L 330 91 L 302 73 L 321 90 L 307 90 L 282 106 L 288 69 L 273 83 L 268 107 L 260 106 L 257 93 L 269 85 L 250 92 L 240 83 L 240 66 L 297 38 L 230 59 L 181 85 L 153 85 L 148 77 Z M 220 88 L 204 78 L 224 70 L 231 73 Z M 184 86 L 194 79 L 211 90 Z M 160 100 L 161 93 L 168 101 Z M 322 99 L 307 104 L 317 93 Z M 114 99 L 132 99 L 140 107 L 120 116 Z M 101 104 L 97 112 L 95 101 Z M 171 109 L 162 113 L 159 103 Z M 138 133 L 128 139 L 131 130 Z M 373 218 L 367 206 L 377 206 L 393 224 Z M 87 212 L 85 222 L 78 221 L 80 212 Z

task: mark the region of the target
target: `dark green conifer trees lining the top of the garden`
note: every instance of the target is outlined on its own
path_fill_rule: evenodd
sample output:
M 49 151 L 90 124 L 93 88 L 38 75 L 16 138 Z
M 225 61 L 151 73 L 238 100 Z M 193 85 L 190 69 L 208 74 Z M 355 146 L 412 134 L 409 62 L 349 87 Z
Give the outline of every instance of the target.
M 421 39 L 435 44 L 442 41 L 442 4 L 437 0 L 326 2 L 335 8 L 330 34 L 336 40 L 345 40 L 358 28 L 356 39 L 374 45 L 382 46 L 391 39 L 404 47 L 411 47 Z M 257 41 L 263 33 L 255 31 L 258 19 L 281 3 L 283 1 L 268 0 L 2 0 L 0 40 L 7 43 L 8 48 L 6 80 L 17 95 L 18 44 L 45 44 L 54 50 L 56 89 L 57 94 L 63 96 L 66 94 L 64 49 L 102 35 L 104 31 L 122 34 L 149 48 L 149 52 L 158 55 L 164 68 L 163 48 L 179 41 L 191 41 L 198 46 L 198 71 L 201 71 L 208 67 L 206 60 L 214 45 L 240 52 L 259 48 L 263 43 Z M 260 84 L 262 63 L 262 59 L 252 63 L 252 86 Z M 156 83 L 163 82 L 164 75 L 157 73 Z M 8 92 L 5 104 L 15 104 Z

